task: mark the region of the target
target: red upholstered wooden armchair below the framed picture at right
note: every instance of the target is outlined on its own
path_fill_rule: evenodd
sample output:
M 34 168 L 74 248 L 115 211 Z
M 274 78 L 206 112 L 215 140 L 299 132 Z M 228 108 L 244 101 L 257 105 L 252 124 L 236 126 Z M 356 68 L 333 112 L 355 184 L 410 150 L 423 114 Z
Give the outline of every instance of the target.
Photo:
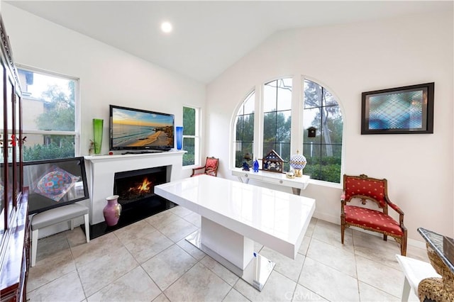
M 361 204 L 373 201 L 382 211 L 372 210 L 362 206 L 349 206 L 348 202 L 360 199 Z M 404 212 L 389 201 L 387 179 L 375 179 L 360 176 L 343 175 L 343 195 L 341 196 L 341 241 L 345 228 L 353 225 L 365 230 L 382 233 L 383 240 L 392 236 L 400 244 L 401 255 L 406 255 L 406 228 L 404 226 Z M 399 221 L 388 215 L 388 206 L 399 213 Z

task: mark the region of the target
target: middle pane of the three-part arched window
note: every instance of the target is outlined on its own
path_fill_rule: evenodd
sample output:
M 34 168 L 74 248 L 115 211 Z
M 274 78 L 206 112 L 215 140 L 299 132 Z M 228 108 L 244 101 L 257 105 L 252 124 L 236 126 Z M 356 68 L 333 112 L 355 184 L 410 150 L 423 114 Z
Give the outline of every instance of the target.
M 265 84 L 263 95 L 263 155 L 275 150 L 289 170 L 292 130 L 292 79 Z

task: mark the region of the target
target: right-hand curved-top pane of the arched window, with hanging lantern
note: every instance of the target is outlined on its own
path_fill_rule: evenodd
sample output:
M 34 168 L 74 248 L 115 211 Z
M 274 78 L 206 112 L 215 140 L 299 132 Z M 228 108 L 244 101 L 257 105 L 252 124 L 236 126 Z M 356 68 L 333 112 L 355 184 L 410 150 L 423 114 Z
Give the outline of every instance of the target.
M 304 174 L 311 179 L 341 183 L 341 108 L 326 88 L 308 79 L 304 80 L 303 119 L 303 154 L 307 160 Z M 309 137 L 309 128 L 315 130 L 315 137 Z

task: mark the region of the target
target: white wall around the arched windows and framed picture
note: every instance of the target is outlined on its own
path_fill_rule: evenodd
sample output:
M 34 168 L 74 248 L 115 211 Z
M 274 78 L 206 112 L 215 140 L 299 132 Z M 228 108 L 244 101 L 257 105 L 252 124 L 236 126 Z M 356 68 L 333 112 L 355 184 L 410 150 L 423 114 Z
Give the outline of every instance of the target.
M 255 85 L 299 74 L 341 103 L 343 172 L 386 177 L 410 239 L 423 241 L 419 227 L 453 237 L 453 12 L 272 35 L 207 86 L 206 154 L 221 158 L 222 177 L 235 179 L 228 146 L 238 104 Z M 435 82 L 433 134 L 360 135 L 362 91 L 426 82 Z M 309 184 L 301 195 L 316 198 L 314 216 L 340 223 L 339 187 Z

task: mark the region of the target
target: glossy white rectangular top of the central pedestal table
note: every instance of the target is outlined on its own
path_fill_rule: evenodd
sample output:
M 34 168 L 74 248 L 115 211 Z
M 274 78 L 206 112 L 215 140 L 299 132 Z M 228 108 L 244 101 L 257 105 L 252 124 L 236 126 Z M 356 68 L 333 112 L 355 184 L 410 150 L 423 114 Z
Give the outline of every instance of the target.
M 160 184 L 155 193 L 292 259 L 315 210 L 312 198 L 207 175 Z

